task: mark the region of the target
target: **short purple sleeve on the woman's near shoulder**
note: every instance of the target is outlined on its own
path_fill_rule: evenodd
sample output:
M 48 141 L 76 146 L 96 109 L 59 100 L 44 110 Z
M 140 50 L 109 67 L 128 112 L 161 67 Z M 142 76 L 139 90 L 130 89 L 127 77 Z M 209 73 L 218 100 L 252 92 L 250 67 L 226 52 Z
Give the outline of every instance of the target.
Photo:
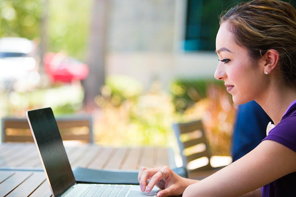
M 296 152 L 296 117 L 287 117 L 274 127 L 264 140 L 276 141 Z

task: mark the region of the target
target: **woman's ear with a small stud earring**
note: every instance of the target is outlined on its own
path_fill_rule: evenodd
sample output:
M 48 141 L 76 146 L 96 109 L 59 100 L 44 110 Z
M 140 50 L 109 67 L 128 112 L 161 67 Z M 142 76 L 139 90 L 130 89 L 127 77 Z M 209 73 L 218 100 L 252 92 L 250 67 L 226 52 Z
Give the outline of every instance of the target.
M 274 70 L 279 62 L 279 51 L 275 49 L 269 49 L 262 58 L 262 64 L 264 64 L 263 72 L 268 75 Z

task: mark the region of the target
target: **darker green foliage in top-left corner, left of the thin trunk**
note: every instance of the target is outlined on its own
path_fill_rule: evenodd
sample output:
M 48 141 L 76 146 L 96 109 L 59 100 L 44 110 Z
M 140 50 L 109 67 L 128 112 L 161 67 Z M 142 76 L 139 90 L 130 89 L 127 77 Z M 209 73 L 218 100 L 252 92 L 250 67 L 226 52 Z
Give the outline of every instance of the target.
M 40 0 L 1 0 L 0 37 L 34 39 L 40 36 L 41 16 Z

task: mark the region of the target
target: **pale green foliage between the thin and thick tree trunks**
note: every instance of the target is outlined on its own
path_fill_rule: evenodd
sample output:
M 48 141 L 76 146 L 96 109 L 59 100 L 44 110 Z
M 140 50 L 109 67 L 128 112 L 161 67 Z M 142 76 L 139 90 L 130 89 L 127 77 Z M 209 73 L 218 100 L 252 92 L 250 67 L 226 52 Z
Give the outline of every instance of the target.
M 91 0 L 50 0 L 49 50 L 84 60 L 91 21 Z

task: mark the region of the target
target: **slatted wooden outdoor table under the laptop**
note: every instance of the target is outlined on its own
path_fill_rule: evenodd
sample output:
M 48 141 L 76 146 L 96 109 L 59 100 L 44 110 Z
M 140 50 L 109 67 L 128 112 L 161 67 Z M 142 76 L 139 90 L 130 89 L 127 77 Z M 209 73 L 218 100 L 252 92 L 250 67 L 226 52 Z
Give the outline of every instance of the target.
M 114 148 L 97 145 L 66 146 L 72 169 L 137 170 L 140 166 L 176 167 L 169 148 Z M 0 196 L 51 196 L 34 143 L 0 145 Z

